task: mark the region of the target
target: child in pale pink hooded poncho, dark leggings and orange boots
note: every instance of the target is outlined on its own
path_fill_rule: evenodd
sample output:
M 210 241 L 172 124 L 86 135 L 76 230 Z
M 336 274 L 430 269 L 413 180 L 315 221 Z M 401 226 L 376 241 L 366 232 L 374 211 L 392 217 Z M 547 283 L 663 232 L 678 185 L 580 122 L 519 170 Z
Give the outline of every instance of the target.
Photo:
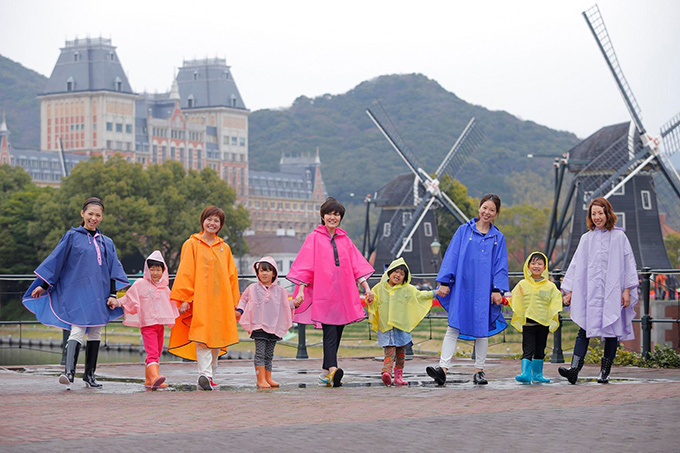
M 236 307 L 236 319 L 255 340 L 257 388 L 279 387 L 272 379 L 274 348 L 293 325 L 293 302 L 277 283 L 279 270 L 271 256 L 253 264 L 257 283 L 251 284 Z

